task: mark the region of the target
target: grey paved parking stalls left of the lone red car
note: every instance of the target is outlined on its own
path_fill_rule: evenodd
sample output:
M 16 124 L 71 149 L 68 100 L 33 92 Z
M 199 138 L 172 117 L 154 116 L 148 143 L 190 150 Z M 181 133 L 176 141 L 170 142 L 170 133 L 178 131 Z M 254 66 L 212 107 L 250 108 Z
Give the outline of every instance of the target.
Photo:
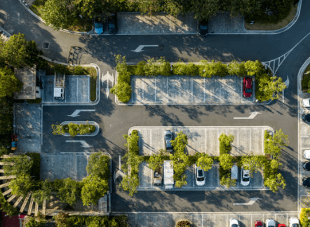
M 127 104 L 254 104 L 255 81 L 251 97 L 243 97 L 243 78 L 239 76 L 132 76 L 133 93 Z

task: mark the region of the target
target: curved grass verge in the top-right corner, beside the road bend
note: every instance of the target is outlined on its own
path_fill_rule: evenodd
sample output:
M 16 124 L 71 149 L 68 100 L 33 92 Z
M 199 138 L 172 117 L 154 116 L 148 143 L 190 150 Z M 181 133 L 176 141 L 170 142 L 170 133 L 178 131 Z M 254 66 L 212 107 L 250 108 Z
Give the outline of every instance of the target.
M 260 23 L 260 22 L 254 22 L 254 25 L 250 25 L 250 22 L 244 22 L 244 27 L 247 30 L 266 30 L 266 31 L 273 31 L 273 30 L 278 30 L 286 25 L 288 25 L 292 19 L 295 18 L 295 15 L 297 13 L 297 4 L 292 6 L 290 9 L 290 13 L 286 18 L 281 20 L 280 22 L 274 24 L 274 23 Z

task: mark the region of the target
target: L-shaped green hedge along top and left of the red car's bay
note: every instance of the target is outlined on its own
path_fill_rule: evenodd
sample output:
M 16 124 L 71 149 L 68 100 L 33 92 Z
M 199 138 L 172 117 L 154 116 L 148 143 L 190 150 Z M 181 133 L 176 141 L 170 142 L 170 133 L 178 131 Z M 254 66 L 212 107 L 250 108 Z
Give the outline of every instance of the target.
M 117 84 L 114 85 L 111 92 L 115 94 L 121 102 L 128 102 L 131 98 L 133 90 L 130 85 L 130 76 L 132 75 L 187 75 L 207 78 L 212 76 L 255 76 L 255 78 L 258 78 L 261 75 L 270 73 L 268 69 L 264 69 L 264 66 L 258 60 L 255 62 L 232 61 L 229 64 L 215 62 L 214 60 L 211 62 L 201 60 L 199 64 L 177 62 L 171 66 L 170 62 L 166 61 L 164 57 L 161 57 L 159 60 L 151 58 L 150 60 L 147 60 L 147 62 L 142 61 L 136 65 L 128 66 L 126 63 L 126 57 L 121 57 L 121 55 L 116 56 L 116 70 L 118 71 L 119 76 L 117 78 Z M 260 94 L 260 83 L 257 83 L 257 87 L 257 92 Z M 261 94 L 261 96 L 263 97 L 264 95 Z

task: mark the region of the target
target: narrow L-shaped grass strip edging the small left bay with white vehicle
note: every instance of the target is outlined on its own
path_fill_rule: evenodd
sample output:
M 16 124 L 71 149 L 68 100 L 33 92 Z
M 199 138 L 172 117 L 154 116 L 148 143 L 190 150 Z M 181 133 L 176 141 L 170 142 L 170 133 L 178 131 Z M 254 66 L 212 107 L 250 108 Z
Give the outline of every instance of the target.
M 97 96 L 97 70 L 94 67 L 67 66 L 48 62 L 46 75 L 54 75 L 55 71 L 65 75 L 88 75 L 90 76 L 90 100 L 94 102 Z

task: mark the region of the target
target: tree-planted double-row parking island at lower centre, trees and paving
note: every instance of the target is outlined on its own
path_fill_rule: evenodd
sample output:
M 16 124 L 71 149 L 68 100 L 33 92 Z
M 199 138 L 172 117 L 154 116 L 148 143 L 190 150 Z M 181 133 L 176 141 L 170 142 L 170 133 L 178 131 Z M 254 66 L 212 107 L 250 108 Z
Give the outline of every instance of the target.
M 161 128 L 154 129 L 156 132 L 163 132 L 163 130 Z M 135 127 L 132 129 L 131 135 L 124 136 L 127 140 L 128 152 L 123 157 L 122 170 L 126 176 L 123 177 L 121 186 L 124 190 L 129 191 L 130 195 L 137 191 L 165 190 L 161 180 L 164 179 L 164 171 L 162 170 L 164 160 L 170 160 L 173 163 L 173 190 L 230 190 L 229 188 L 233 186 L 231 190 L 268 190 L 269 188 L 269 190 L 276 192 L 279 187 L 285 188 L 285 179 L 280 172 L 282 165 L 280 156 L 281 149 L 288 144 L 288 138 L 282 130 L 274 132 L 271 128 L 265 127 L 257 134 L 248 128 L 247 132 L 254 136 L 250 139 L 243 137 L 246 131 L 239 133 L 239 130 L 236 129 L 224 130 L 223 128 L 220 130 L 220 134 L 218 131 L 215 132 L 218 136 L 220 135 L 220 137 L 217 136 L 220 155 L 216 154 L 216 147 L 201 144 L 202 140 L 207 141 L 208 138 L 212 138 L 213 144 L 217 143 L 213 141 L 210 132 L 205 132 L 203 135 L 198 128 L 195 130 L 190 127 L 172 131 L 176 135 L 171 142 L 173 152 L 167 152 L 164 149 L 159 149 L 159 146 L 154 146 L 163 143 L 161 133 L 160 135 L 151 135 L 151 138 L 155 140 L 149 141 L 147 135 L 151 132 L 147 132 L 144 128 Z M 234 135 L 229 135 L 229 132 L 233 132 Z M 146 135 L 144 135 L 145 133 Z M 235 136 L 237 137 L 236 142 L 234 142 Z M 243 144 L 239 144 L 238 139 L 240 138 L 250 144 L 252 143 L 252 147 L 260 146 L 261 151 L 255 151 L 253 154 L 248 147 L 245 150 Z M 189 139 L 191 144 L 189 144 Z M 201 147 L 205 149 L 208 148 L 208 150 L 205 152 L 198 151 L 197 146 L 193 147 L 193 141 L 196 144 L 201 144 Z M 143 144 L 151 147 L 149 155 L 146 155 Z M 239 150 L 238 147 L 243 147 L 243 149 Z M 231 179 L 231 167 L 233 165 L 237 165 L 239 169 L 243 167 L 245 170 L 249 170 L 250 185 L 241 186 L 240 177 L 237 180 Z M 195 183 L 195 166 L 201 167 L 205 171 L 205 184 L 202 186 Z M 155 172 L 161 176 L 157 176 L 158 174 L 154 174 Z

